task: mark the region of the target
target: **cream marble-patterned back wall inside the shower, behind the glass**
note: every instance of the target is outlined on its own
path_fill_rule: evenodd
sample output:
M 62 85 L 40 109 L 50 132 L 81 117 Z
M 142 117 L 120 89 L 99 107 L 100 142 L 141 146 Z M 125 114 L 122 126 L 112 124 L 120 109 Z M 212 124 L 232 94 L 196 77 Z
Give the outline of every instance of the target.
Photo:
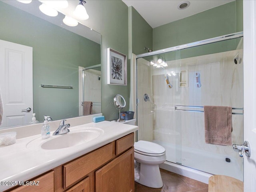
M 168 67 L 151 66 L 154 110 L 154 140 L 190 147 L 214 154 L 235 158 L 242 170 L 243 160 L 232 146 L 206 144 L 204 141 L 204 113 L 178 112 L 175 105 L 184 106 L 232 106 L 243 108 L 243 63 L 235 64 L 234 56 L 242 50 L 234 50 L 167 62 Z M 187 70 L 188 87 L 179 86 L 178 72 Z M 201 87 L 196 84 L 196 72 L 200 73 Z M 167 88 L 164 75 L 169 76 L 172 89 Z M 175 74 L 175 76 L 173 75 Z M 242 111 L 236 111 L 242 112 Z M 177 117 L 178 116 L 178 117 Z M 243 116 L 232 115 L 232 143 L 243 143 Z M 181 163 L 186 166 L 186 161 Z M 187 165 L 188 166 L 188 165 Z

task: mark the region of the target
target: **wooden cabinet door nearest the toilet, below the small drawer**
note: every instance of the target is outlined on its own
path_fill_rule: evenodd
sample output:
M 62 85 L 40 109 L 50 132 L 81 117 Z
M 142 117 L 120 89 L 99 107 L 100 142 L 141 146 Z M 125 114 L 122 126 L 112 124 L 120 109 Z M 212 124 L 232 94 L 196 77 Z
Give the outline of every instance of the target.
M 134 192 L 134 148 L 95 173 L 96 192 Z

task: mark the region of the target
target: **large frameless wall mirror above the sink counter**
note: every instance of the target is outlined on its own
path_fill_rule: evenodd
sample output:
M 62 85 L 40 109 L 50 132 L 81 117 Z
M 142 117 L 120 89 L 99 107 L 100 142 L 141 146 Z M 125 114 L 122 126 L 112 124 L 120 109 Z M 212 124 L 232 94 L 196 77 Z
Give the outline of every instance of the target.
M 74 0 L 68 2 L 79 3 Z M 24 57 L 30 55 L 24 51 L 25 48 L 0 52 L 0 58 L 5 57 L 0 60 L 0 76 L 4 76 L 0 79 L 2 98 L 8 106 L 20 104 L 16 107 L 18 114 L 4 105 L 4 114 L 8 118 L 5 117 L 0 129 L 28 124 L 33 113 L 39 122 L 43 121 L 44 115 L 53 120 L 84 115 L 83 104 L 88 102 L 95 105 L 87 111 L 88 114 L 101 112 L 101 35 L 80 23 L 76 27 L 66 26 L 60 12 L 57 17 L 45 16 L 38 8 L 40 4 L 36 0 L 30 4 L 16 0 L 0 1 L 0 44 L 6 46 L 7 43 L 8 46 L 9 42 L 15 43 L 28 47 L 28 52 L 32 51 L 30 69 L 19 64 L 6 66 L 6 60 L 11 64 L 17 62 L 15 56 L 22 63 Z M 3 50 L 12 48 L 1 48 Z M 32 92 L 29 88 L 21 89 L 26 86 L 24 79 L 30 75 L 25 72 L 29 71 Z M 23 104 L 24 98 L 30 97 L 32 106 Z M 25 115 L 28 118 L 24 118 Z

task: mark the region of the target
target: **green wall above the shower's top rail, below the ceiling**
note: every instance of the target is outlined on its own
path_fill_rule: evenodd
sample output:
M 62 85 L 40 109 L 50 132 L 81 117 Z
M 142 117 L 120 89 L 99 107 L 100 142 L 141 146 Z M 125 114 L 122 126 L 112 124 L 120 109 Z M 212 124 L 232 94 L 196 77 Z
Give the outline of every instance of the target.
M 242 31 L 241 6 L 241 2 L 233 1 L 154 28 L 153 48 L 160 50 Z

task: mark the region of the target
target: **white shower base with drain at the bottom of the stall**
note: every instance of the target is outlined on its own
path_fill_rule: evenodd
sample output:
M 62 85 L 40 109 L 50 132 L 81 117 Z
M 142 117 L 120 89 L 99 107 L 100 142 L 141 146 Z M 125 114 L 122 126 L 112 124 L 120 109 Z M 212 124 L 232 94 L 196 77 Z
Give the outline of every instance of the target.
M 158 140 L 153 140 L 153 142 L 166 149 L 166 162 L 161 164 L 160 168 L 207 184 L 208 178 L 217 174 L 231 176 L 243 181 L 242 166 L 239 166 L 235 158 L 189 147 L 182 147 L 182 152 L 177 152 L 174 144 Z M 226 162 L 226 158 L 230 158 L 230 162 Z M 178 162 L 182 165 L 172 162 Z

